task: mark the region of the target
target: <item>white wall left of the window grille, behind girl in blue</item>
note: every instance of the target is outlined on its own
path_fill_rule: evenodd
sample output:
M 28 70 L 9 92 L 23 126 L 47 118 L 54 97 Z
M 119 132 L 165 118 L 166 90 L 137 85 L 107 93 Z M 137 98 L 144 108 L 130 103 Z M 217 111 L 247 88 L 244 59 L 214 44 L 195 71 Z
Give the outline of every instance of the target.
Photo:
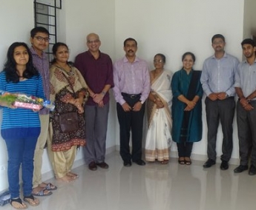
M 15 4 L 14 4 L 15 3 Z M 31 1 L 0 0 L 0 71 L 6 61 L 7 49 L 14 41 L 29 44 L 30 30 L 33 28 L 33 3 Z M 15 8 L 19 8 L 14 10 Z M 1 111 L 0 111 L 1 122 Z M 0 135 L 0 192 L 7 189 L 7 149 Z

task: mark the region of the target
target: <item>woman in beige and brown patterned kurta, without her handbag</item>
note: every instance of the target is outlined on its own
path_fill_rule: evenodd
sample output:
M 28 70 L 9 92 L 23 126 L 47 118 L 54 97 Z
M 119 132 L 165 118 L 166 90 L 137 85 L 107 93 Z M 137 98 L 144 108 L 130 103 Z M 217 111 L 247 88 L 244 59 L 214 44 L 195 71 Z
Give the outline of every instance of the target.
M 56 179 L 69 182 L 78 177 L 70 172 L 76 158 L 76 147 L 85 146 L 83 105 L 88 98 L 88 91 L 79 70 L 68 63 L 68 46 L 64 43 L 54 44 L 53 55 L 55 58 L 50 67 L 50 100 L 55 102 L 56 108 L 51 115 L 48 153 Z M 78 112 L 79 129 L 62 132 L 59 115 L 68 112 Z

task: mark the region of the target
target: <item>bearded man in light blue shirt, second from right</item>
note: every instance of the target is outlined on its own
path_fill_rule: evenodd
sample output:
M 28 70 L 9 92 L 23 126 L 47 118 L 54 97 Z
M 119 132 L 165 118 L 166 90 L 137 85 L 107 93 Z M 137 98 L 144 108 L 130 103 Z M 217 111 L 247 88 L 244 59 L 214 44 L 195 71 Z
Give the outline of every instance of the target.
M 211 38 L 214 55 L 203 63 L 201 83 L 206 92 L 206 121 L 208 126 L 208 160 L 203 165 L 209 168 L 216 163 L 216 139 L 219 122 L 223 130 L 223 143 L 220 160 L 221 170 L 229 169 L 229 159 L 233 149 L 233 118 L 234 118 L 234 74 L 239 61 L 225 52 L 225 38 L 216 34 Z

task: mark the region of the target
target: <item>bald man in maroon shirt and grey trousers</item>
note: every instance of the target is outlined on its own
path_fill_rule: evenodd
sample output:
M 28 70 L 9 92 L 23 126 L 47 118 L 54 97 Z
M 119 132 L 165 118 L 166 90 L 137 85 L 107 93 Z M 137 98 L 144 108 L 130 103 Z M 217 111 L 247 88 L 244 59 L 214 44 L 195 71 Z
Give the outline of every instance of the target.
M 108 169 L 105 148 L 110 101 L 108 90 L 114 86 L 113 65 L 109 55 L 99 50 L 99 35 L 90 33 L 86 41 L 88 51 L 76 56 L 75 66 L 85 78 L 90 93 L 85 104 L 85 163 L 95 171 L 97 166 Z

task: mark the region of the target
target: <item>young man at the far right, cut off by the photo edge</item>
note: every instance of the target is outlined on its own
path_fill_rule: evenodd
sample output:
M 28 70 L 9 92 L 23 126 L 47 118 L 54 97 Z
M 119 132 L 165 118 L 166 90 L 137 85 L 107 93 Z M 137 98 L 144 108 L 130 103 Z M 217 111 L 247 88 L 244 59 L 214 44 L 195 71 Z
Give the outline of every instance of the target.
M 234 87 L 239 97 L 237 129 L 240 166 L 234 169 L 234 173 L 247 170 L 251 157 L 249 175 L 256 175 L 256 45 L 251 38 L 243 40 L 241 45 L 246 61 L 239 64 L 235 74 Z

